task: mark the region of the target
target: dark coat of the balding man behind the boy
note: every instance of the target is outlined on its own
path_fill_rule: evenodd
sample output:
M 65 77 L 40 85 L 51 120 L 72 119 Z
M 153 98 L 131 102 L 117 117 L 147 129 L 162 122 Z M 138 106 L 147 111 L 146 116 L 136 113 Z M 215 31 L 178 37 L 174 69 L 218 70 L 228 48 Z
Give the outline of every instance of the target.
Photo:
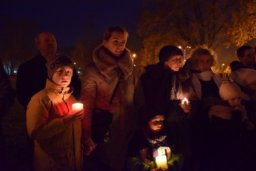
M 32 96 L 43 90 L 48 78 L 47 60 L 39 53 L 34 58 L 21 64 L 17 71 L 16 95 L 19 103 L 27 109 Z M 73 68 L 73 75 L 70 85 L 74 88 L 73 96 L 79 100 L 81 81 Z

